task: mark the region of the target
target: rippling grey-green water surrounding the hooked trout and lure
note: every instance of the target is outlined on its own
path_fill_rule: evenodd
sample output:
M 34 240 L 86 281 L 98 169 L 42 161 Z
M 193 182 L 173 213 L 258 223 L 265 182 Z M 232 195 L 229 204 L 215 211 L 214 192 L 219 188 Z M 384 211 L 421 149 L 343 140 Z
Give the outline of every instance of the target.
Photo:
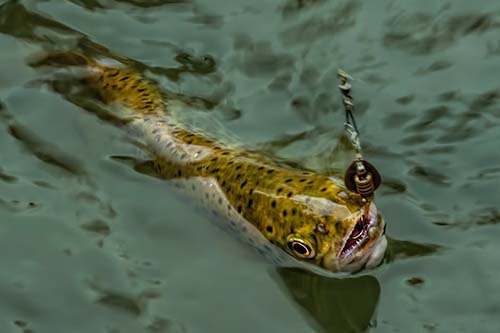
M 0 332 L 499 332 L 499 31 L 494 1 L 0 0 Z M 123 163 L 136 145 L 50 84 L 67 74 L 27 64 L 62 49 L 124 57 L 319 171 L 351 158 L 348 71 L 384 264 L 266 262 Z

